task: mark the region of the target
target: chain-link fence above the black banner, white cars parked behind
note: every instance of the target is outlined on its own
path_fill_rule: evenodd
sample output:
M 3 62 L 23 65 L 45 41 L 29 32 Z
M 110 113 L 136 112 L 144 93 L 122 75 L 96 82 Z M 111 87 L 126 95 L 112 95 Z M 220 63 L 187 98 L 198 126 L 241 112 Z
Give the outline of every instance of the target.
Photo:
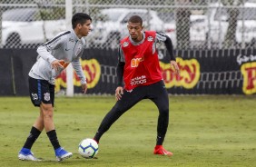
M 65 27 L 65 0 L 0 0 L 0 47 L 34 48 Z M 256 2 L 246 0 L 73 0 L 93 17 L 88 47 L 116 48 L 127 20 L 171 37 L 174 48 L 246 48 L 256 42 Z

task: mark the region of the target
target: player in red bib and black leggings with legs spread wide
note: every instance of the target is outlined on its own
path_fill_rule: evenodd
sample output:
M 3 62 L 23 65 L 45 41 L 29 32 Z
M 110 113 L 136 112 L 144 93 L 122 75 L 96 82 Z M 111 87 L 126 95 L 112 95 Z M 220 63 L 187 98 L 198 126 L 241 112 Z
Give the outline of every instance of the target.
M 156 43 L 164 42 L 171 55 L 171 65 L 175 73 L 179 74 L 179 66 L 173 56 L 172 41 L 166 34 L 155 31 L 143 32 L 143 20 L 138 15 L 133 15 L 129 19 L 127 28 L 130 35 L 121 40 L 119 63 L 116 69 L 118 86 L 115 90 L 115 97 L 117 102 L 103 118 L 94 140 L 99 142 L 103 133 L 134 104 L 143 99 L 150 99 L 159 110 L 156 146 L 153 153 L 172 156 L 172 152 L 162 147 L 169 123 L 169 99 L 162 81 L 156 50 Z

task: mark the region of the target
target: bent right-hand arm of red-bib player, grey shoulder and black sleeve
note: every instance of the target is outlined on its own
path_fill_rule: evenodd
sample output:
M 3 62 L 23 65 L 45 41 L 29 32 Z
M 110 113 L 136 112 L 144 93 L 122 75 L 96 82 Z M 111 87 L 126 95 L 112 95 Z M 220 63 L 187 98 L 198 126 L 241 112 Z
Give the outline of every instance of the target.
M 176 63 L 175 57 L 173 54 L 173 45 L 172 45 L 171 38 L 166 34 L 156 32 L 156 40 L 159 43 L 163 42 L 165 44 L 165 47 L 170 55 L 170 60 L 171 60 L 170 63 L 172 65 L 172 67 L 174 67 L 175 73 L 180 74 L 180 68 L 179 68 L 178 64 Z

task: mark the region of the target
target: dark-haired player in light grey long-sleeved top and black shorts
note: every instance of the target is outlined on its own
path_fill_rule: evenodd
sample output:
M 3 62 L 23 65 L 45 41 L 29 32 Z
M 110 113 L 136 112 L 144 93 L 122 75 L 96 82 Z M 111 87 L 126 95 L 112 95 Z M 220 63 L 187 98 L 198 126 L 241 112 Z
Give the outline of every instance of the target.
M 91 31 L 91 23 L 90 15 L 77 13 L 72 17 L 72 30 L 57 34 L 52 40 L 38 47 L 37 61 L 29 72 L 29 93 L 34 106 L 40 107 L 40 113 L 18 153 L 20 160 L 39 161 L 34 157 L 31 148 L 44 128 L 54 147 L 58 162 L 73 155 L 61 147 L 54 128 L 54 80 L 68 64 L 72 63 L 81 79 L 82 90 L 86 93 L 86 79 L 79 59 L 85 47 L 83 37 Z

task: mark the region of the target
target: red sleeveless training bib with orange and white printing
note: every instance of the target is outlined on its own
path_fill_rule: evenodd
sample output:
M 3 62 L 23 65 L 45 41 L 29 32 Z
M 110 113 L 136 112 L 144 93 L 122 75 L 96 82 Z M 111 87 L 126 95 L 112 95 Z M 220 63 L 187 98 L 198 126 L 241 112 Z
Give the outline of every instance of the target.
M 124 89 L 127 91 L 142 85 L 157 83 L 162 80 L 158 53 L 155 49 L 156 32 L 146 31 L 142 44 L 133 45 L 129 36 L 123 38 L 125 65 L 123 72 Z

